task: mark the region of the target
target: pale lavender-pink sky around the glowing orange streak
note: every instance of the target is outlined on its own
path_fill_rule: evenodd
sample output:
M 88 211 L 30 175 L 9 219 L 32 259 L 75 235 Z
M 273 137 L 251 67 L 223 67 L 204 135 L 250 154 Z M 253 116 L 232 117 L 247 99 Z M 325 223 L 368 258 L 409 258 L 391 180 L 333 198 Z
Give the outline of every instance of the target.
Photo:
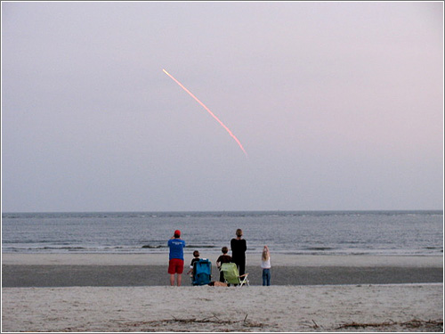
M 442 2 L 2 2 L 2 210 L 442 209 L 443 73 Z

